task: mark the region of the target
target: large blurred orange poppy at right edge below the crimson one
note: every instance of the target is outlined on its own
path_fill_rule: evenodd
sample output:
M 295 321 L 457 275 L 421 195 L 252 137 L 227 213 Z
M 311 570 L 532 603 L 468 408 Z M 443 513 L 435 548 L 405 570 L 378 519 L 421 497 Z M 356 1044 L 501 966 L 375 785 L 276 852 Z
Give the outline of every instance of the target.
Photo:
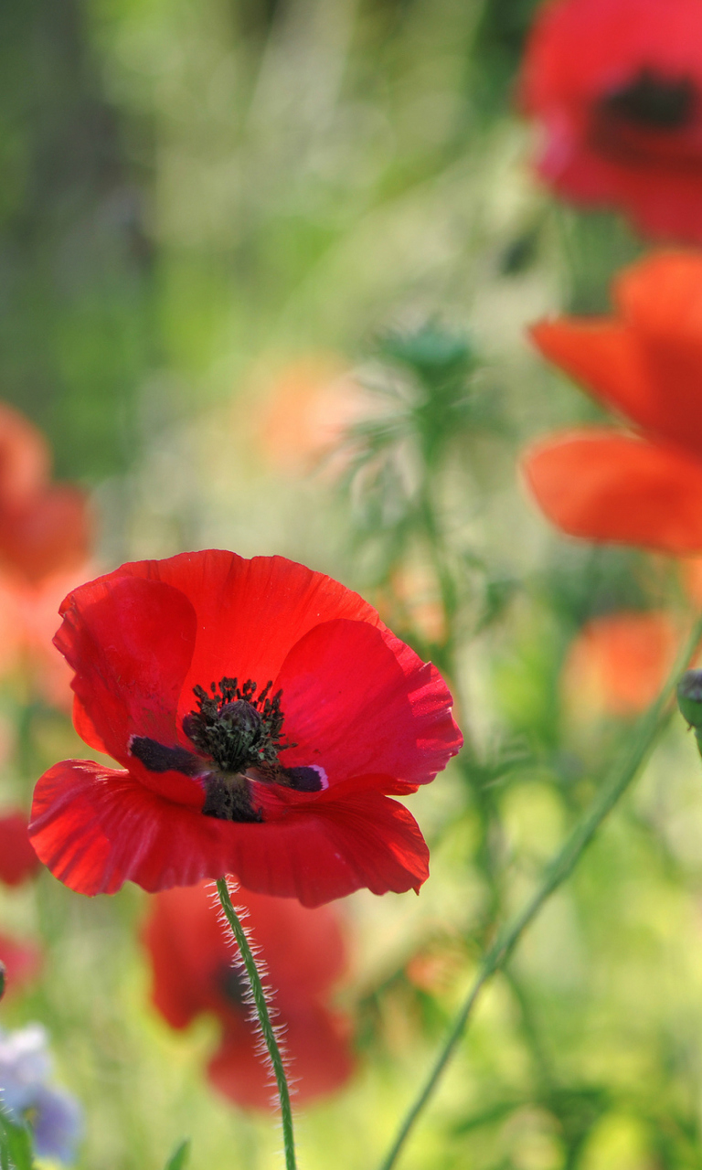
M 614 302 L 614 317 L 546 321 L 531 335 L 635 433 L 583 427 L 550 435 L 526 452 L 526 481 L 571 536 L 698 552 L 702 256 L 644 260 L 619 275 Z

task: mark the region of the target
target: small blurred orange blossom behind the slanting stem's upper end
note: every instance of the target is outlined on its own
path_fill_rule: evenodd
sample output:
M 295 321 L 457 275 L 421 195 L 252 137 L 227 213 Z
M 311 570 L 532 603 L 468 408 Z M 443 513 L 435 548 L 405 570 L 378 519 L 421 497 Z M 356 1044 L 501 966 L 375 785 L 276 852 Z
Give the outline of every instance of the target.
M 593 618 L 571 644 L 563 695 L 577 718 L 638 715 L 654 701 L 675 661 L 679 631 L 667 613 Z

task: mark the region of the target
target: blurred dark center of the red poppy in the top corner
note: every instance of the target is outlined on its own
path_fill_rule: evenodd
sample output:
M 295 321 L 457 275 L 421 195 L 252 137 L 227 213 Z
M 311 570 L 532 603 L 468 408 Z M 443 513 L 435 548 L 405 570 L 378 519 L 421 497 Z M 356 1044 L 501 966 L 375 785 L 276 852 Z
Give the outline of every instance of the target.
M 627 85 L 601 99 L 601 113 L 641 130 L 681 130 L 693 121 L 696 96 L 689 77 L 661 77 L 644 67 Z

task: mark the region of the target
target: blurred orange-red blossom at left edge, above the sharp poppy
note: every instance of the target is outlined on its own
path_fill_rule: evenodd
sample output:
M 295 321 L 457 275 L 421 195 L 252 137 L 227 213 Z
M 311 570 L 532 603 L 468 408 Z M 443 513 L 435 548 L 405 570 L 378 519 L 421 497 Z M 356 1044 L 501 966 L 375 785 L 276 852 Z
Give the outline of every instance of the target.
M 40 432 L 0 402 L 0 566 L 36 584 L 87 559 L 84 493 L 50 482 L 49 447 Z

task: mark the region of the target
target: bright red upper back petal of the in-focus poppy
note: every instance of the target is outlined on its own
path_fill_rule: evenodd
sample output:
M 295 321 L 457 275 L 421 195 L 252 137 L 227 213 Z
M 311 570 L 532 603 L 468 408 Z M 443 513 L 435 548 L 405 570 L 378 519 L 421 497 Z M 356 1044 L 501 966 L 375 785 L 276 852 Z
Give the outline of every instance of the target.
M 123 565 L 113 577 L 138 576 L 180 590 L 198 614 L 198 635 L 183 688 L 180 715 L 193 708 L 192 688 L 225 675 L 275 679 L 295 642 L 321 621 L 350 618 L 381 625 L 358 593 L 284 557 L 253 557 L 208 549 L 167 560 Z

